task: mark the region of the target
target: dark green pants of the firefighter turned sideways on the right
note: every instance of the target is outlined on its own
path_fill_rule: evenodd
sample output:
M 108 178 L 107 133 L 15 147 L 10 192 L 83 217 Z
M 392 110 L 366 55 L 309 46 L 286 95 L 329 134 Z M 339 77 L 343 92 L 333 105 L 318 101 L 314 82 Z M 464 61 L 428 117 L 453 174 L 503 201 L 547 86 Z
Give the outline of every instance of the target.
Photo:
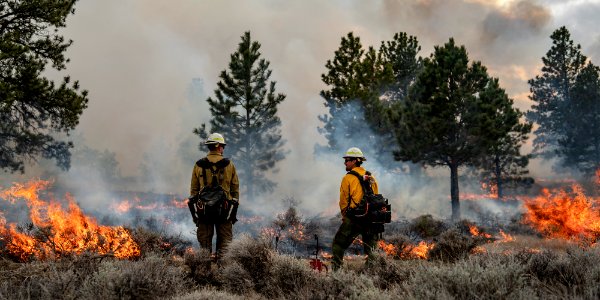
M 365 254 L 367 254 L 367 261 L 374 258 L 373 250 L 375 249 L 375 235 L 369 234 L 367 228 L 361 224 L 352 222 L 349 218 L 344 217 L 342 225 L 338 229 L 335 237 L 333 238 L 332 252 L 333 252 L 333 269 L 337 270 L 342 266 L 344 260 L 344 252 L 352 241 L 358 236 L 362 236 L 363 247 Z

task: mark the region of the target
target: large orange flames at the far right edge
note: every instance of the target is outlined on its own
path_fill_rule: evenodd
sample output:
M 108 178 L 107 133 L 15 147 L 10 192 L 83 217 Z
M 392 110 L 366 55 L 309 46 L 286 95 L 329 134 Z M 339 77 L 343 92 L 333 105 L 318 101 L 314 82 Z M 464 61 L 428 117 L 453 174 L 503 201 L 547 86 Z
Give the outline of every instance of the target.
M 599 204 L 577 184 L 572 192 L 544 189 L 541 196 L 525 201 L 523 222 L 548 238 L 596 240 L 600 237 Z

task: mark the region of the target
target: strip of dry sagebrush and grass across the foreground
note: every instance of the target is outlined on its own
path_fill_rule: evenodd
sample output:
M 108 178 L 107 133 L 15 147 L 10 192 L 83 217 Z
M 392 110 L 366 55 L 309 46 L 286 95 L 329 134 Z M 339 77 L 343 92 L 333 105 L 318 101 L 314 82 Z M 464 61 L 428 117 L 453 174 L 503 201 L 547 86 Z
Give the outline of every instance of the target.
M 146 241 L 163 241 L 152 235 Z M 457 228 L 433 239 L 430 260 L 379 256 L 316 272 L 306 257 L 275 252 L 268 242 L 234 238 L 225 263 L 206 252 L 161 250 L 148 242 L 135 261 L 85 254 L 54 261 L 0 260 L 0 299 L 598 299 L 600 249 L 515 236 L 478 242 Z M 435 250 L 435 248 L 434 248 Z

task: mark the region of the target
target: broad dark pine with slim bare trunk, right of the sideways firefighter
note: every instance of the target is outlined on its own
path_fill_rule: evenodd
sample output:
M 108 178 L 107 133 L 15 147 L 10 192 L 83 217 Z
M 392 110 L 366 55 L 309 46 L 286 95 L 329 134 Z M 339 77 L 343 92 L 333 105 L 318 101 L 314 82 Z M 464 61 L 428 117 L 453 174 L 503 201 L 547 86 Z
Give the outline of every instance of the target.
M 450 39 L 424 60 L 395 119 L 397 159 L 450 169 L 452 219 L 460 219 L 458 170 L 477 165 L 518 123 L 519 113 L 480 62 Z

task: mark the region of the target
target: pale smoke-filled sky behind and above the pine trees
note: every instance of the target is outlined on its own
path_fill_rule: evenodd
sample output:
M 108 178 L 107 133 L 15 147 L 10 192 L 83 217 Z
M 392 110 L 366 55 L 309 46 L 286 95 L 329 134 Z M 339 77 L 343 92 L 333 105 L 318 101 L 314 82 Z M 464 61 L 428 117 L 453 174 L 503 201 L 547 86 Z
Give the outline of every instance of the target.
M 500 78 L 521 110 L 531 105 L 527 80 L 539 72 L 558 27 L 566 26 L 583 53 L 600 63 L 597 0 L 102 0 L 75 8 L 62 31 L 74 41 L 66 73 L 90 98 L 77 131 L 90 147 L 115 152 L 122 173 L 131 176 L 148 153 L 154 161 L 177 156 L 181 141 L 209 120 L 204 100 L 250 31 L 271 63 L 277 91 L 287 95 L 280 116 L 289 154 L 279 166 L 277 193 L 292 197 L 307 185 L 337 197 L 342 160 L 318 163 L 313 150 L 324 143 L 317 132 L 317 116 L 326 113 L 321 74 L 350 31 L 365 48 L 406 32 L 418 38 L 421 56 L 454 37 L 471 60 Z M 191 174 L 193 163 L 182 173 Z M 327 179 L 311 180 L 311 173 Z M 180 182 L 163 190 L 185 194 L 189 178 Z

